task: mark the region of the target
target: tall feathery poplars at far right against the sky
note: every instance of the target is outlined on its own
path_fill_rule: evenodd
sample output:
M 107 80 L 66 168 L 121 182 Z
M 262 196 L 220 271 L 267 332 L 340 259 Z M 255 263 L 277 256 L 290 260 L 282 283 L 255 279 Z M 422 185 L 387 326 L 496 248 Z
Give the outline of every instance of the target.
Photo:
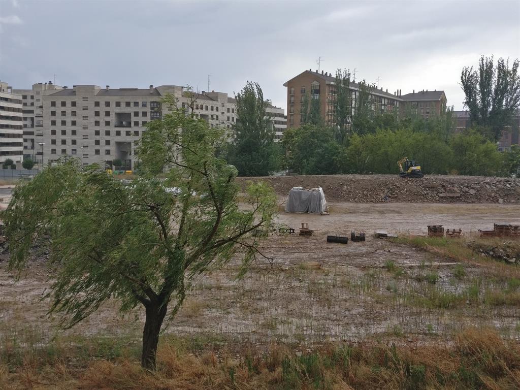
M 498 141 L 505 126 L 511 123 L 514 111 L 520 107 L 520 76 L 518 59 L 509 68 L 509 60 L 480 57 L 478 72 L 473 67 L 464 67 L 461 86 L 464 90 L 464 105 L 470 110 L 474 125 L 490 129 L 490 138 Z

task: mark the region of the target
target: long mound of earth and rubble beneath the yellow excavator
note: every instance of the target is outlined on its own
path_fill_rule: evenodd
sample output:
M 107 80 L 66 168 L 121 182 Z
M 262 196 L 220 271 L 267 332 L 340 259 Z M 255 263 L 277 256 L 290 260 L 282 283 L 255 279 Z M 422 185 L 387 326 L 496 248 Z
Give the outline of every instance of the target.
M 242 177 L 266 180 L 277 194 L 294 186 L 322 187 L 328 200 L 359 203 L 520 203 L 520 179 L 482 176 L 401 178 L 397 175 L 325 175 Z

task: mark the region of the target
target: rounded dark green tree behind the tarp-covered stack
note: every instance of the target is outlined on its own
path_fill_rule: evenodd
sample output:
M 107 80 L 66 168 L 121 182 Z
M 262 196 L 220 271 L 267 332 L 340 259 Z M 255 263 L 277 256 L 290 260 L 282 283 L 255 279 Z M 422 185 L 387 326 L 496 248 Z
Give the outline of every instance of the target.
M 330 127 L 305 124 L 288 128 L 282 138 L 287 167 L 300 175 L 343 172 L 344 149 Z

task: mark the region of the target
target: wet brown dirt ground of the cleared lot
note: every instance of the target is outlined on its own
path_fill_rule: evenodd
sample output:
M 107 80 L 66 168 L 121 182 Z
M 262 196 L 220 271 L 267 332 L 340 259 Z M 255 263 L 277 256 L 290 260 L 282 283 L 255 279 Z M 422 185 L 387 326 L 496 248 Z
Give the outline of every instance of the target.
M 282 198 L 280 198 L 282 201 Z M 280 206 L 280 208 L 283 206 Z M 376 229 L 420 234 L 426 225 L 462 228 L 466 234 L 495 223 L 520 223 L 520 205 L 505 204 L 329 204 L 330 215 L 287 214 L 278 222 L 315 229 L 313 237 L 272 235 L 262 251 L 272 266 L 259 262 L 237 280 L 238 261 L 198 280 L 167 332 L 225 336 L 248 342 L 322 342 L 402 336 L 406 340 L 446 340 L 465 326 L 492 327 L 520 337 L 518 306 L 467 304 L 455 308 L 425 305 L 418 297 L 457 294 L 480 280 L 479 289 L 503 289 L 506 281 L 486 270 L 457 264 L 410 246 L 372 238 Z M 326 242 L 326 235 L 367 233 L 364 243 Z M 297 230 L 296 230 L 297 231 Z M 58 331 L 40 301 L 49 286 L 41 262 L 24 270 L 19 282 L 0 262 L 0 346 L 28 333 L 42 341 Z M 437 275 L 434 284 L 424 276 Z M 493 291 L 495 291 L 493 290 Z M 437 294 L 437 295 L 436 295 Z M 139 335 L 142 313 L 121 318 L 116 302 L 64 334 Z

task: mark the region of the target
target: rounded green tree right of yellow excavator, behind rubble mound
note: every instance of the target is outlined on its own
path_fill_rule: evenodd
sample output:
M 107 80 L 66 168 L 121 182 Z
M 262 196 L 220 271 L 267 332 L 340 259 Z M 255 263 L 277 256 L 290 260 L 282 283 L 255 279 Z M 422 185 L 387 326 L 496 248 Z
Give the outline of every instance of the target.
M 502 171 L 502 155 L 497 145 L 475 129 L 453 136 L 450 147 L 452 167 L 460 175 L 493 176 Z

